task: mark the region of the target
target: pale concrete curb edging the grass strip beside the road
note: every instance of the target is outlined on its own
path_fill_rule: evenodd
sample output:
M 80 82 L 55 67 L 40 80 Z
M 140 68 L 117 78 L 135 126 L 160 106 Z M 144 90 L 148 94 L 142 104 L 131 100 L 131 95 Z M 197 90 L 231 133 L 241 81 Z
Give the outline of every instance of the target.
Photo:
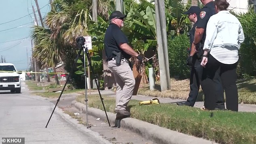
M 71 105 L 75 106 L 82 113 L 85 113 L 85 104 L 74 100 L 71 102 Z M 106 119 L 105 111 L 100 109 L 88 107 L 88 114 L 97 118 Z M 115 123 L 115 114 L 107 112 L 107 115 L 109 122 L 113 125 Z M 159 144 L 217 144 L 209 140 L 182 134 L 138 119 L 122 119 L 121 126 Z

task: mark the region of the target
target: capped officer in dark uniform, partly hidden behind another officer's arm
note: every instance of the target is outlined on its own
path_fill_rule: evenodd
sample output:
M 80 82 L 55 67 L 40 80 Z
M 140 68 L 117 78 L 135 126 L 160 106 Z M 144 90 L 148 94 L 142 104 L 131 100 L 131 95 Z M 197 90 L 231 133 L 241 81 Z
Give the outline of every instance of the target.
M 198 24 L 197 17 L 199 16 L 200 11 L 201 9 L 198 6 L 191 6 L 189 10 L 184 13 L 185 15 L 188 15 L 189 20 L 194 23 L 192 29 L 189 31 L 190 47 L 194 41 L 194 34 Z M 197 54 L 188 58 L 187 65 L 191 67 L 189 97 L 186 102 L 177 102 L 178 105 L 194 106 L 200 88 L 201 75 L 203 73 L 203 67 L 201 67 L 200 63 L 201 57 Z

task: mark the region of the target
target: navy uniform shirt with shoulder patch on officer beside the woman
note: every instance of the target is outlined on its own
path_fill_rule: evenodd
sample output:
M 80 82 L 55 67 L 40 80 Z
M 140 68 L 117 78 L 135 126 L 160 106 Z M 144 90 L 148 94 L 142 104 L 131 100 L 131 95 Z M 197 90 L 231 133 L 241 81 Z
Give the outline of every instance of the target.
M 201 13 L 197 17 L 197 27 L 198 28 L 203 28 L 204 29 L 204 35 L 201 40 L 201 42 L 204 44 L 205 38 L 206 38 L 206 26 L 207 23 L 212 15 L 215 15 L 215 5 L 214 2 L 208 2 L 202 9 Z

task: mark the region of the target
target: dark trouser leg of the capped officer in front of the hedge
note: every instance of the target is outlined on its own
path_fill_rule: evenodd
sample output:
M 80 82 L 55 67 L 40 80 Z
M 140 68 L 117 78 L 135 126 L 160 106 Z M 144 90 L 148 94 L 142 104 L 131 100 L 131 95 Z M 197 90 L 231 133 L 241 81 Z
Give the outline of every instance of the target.
M 190 106 L 195 105 L 195 101 L 197 99 L 200 88 L 201 75 L 203 71 L 203 67 L 201 67 L 200 63 L 201 61 L 199 61 L 198 58 L 194 56 L 194 66 L 191 67 L 190 72 L 190 92 L 189 97 L 187 98 L 187 102 L 189 102 Z

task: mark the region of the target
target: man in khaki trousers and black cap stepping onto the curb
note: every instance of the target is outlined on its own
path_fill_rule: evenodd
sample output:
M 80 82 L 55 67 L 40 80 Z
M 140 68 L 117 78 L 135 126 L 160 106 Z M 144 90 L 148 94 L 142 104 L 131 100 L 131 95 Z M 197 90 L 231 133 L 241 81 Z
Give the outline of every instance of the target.
M 116 119 L 130 116 L 127 105 L 132 97 L 135 79 L 128 59 L 131 56 L 136 56 L 139 61 L 142 61 L 143 58 L 128 45 L 128 39 L 121 30 L 126 16 L 120 11 L 111 13 L 109 17 L 110 24 L 104 37 L 104 48 L 108 61 L 107 67 L 113 72 L 117 86 L 115 98 Z M 119 59 L 117 53 L 121 53 L 120 63 L 117 61 Z

